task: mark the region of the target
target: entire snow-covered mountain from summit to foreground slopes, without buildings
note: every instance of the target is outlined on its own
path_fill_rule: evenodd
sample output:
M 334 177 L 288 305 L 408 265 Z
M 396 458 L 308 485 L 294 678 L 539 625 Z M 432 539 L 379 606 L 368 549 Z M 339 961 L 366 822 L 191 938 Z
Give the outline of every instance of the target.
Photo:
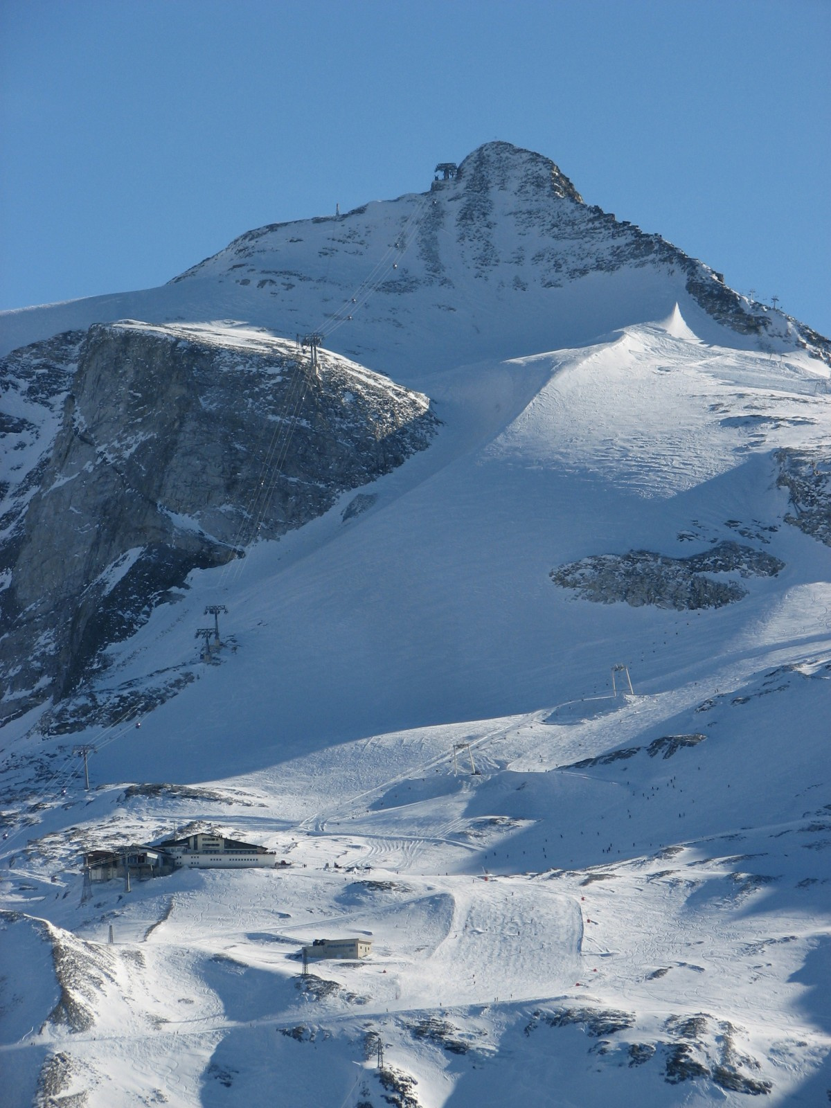
M 828 340 L 507 143 L 0 324 L 10 1104 L 827 1100 Z

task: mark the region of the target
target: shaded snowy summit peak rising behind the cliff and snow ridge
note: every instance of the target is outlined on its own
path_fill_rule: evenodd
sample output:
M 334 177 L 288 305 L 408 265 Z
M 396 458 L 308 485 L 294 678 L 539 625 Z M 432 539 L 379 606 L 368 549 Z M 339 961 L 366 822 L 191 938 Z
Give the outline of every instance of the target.
M 443 164 L 443 163 L 442 163 Z M 93 322 L 238 320 L 428 389 L 437 371 L 592 343 L 669 316 L 707 342 L 806 349 L 810 327 L 666 242 L 582 202 L 547 157 L 492 142 L 424 192 L 248 230 L 155 289 L 0 314 L 0 352 Z

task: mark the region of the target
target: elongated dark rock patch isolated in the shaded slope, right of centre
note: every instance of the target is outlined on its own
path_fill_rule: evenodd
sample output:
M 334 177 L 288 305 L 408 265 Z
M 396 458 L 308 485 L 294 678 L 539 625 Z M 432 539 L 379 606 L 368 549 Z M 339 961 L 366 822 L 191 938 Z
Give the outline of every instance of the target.
M 718 608 L 747 594 L 738 582 L 714 581 L 708 574 L 771 577 L 783 567 L 784 563 L 770 554 L 722 542 L 691 557 L 669 557 L 652 551 L 594 554 L 552 570 L 550 576 L 556 585 L 574 588 L 587 601 L 625 601 L 633 607 L 653 604 L 683 612 Z

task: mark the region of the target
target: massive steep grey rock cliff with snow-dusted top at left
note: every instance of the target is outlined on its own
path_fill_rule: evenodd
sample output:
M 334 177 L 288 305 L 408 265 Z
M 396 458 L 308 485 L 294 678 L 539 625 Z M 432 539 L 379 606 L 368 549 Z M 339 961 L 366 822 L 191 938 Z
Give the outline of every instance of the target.
M 320 515 L 438 422 L 421 393 L 326 353 L 315 372 L 255 332 L 95 326 L 17 352 L 6 375 L 48 412 L 65 399 L 39 460 L 35 424 L 7 417 L 34 464 L 6 516 L 4 718 L 65 695 L 192 570 Z

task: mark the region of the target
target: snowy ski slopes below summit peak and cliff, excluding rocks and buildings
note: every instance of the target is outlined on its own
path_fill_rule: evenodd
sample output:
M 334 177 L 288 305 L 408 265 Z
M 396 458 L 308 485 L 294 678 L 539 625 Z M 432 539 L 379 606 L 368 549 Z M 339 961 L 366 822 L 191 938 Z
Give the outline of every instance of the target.
M 105 686 L 198 680 L 140 730 L 9 725 L 8 1102 L 65 1055 L 60 1095 L 102 1108 L 380 1108 L 370 1033 L 423 1108 L 827 1102 L 829 551 L 783 522 L 773 458 L 828 451 L 823 375 L 707 345 L 677 312 L 413 371 L 435 443 L 360 515 L 342 522 L 347 494 L 195 573 L 112 650 Z M 548 576 L 724 540 L 786 567 L 680 613 Z M 194 628 L 216 603 L 229 645 L 205 665 Z M 634 696 L 612 698 L 615 664 Z M 678 735 L 705 738 L 648 749 Z M 124 799 L 157 781 L 195 788 Z M 80 904 L 82 847 L 192 822 L 291 866 L 111 882 Z M 312 966 L 339 987 L 298 987 L 301 943 L 357 935 L 366 963 Z M 74 1027 L 47 1020 L 53 946 Z

